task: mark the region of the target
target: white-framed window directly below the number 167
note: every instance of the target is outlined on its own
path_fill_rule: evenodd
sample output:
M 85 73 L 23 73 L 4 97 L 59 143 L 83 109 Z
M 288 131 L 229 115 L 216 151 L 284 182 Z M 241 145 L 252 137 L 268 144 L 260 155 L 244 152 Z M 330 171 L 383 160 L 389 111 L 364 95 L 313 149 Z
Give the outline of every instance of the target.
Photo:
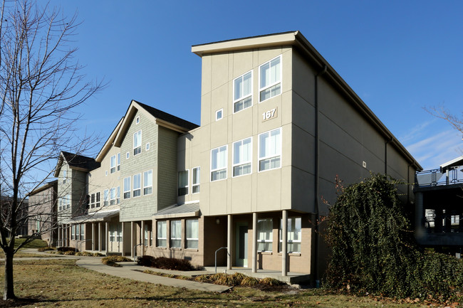
M 281 166 L 281 127 L 259 135 L 259 171 Z

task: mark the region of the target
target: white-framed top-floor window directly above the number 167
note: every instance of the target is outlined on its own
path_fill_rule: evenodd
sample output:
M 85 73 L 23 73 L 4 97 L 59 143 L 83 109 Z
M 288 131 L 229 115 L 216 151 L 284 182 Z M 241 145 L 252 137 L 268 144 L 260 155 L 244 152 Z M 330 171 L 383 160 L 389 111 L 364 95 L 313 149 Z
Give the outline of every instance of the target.
M 281 55 L 264 63 L 259 68 L 260 101 L 281 94 Z

